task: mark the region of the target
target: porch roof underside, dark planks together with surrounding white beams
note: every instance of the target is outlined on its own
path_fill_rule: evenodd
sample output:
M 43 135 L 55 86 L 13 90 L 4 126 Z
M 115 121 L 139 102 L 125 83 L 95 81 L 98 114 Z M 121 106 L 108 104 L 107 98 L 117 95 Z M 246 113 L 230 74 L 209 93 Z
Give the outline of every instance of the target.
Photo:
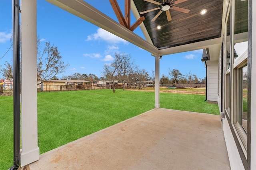
M 131 10 L 136 19 L 141 16 L 145 17 L 140 28 L 146 40 L 90 6 L 84 0 L 46 1 L 145 49 L 153 55 L 168 55 L 203 49 L 210 45 L 219 45 L 221 42 L 223 0 L 188 0 L 175 5 L 190 9 L 188 14 L 171 10 L 171 21 L 167 21 L 166 14 L 162 13 L 154 22 L 150 20 L 158 11 L 143 15 L 140 15 L 139 12 L 154 8 L 156 4 L 144 0 L 131 0 Z M 156 1 L 161 2 L 162 0 Z M 206 15 L 200 15 L 201 8 L 209 9 Z M 157 25 L 161 25 L 162 29 L 157 30 Z

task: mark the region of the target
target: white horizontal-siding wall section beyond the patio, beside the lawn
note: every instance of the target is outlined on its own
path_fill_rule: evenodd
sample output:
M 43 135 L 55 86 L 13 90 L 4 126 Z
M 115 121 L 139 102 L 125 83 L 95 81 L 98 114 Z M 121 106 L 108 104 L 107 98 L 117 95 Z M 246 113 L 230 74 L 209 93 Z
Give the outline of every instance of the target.
M 207 61 L 207 100 L 218 100 L 218 61 Z

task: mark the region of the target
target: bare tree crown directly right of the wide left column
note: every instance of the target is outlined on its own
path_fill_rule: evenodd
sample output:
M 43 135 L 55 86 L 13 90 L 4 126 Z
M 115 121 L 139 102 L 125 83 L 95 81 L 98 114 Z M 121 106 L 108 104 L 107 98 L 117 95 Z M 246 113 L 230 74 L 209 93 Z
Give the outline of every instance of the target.
M 62 74 L 68 68 L 69 64 L 64 64 L 61 60 L 60 52 L 57 47 L 51 45 L 50 42 L 44 43 L 41 49 L 40 39 L 37 39 L 37 78 L 38 84 L 44 80 L 49 80 L 57 74 Z

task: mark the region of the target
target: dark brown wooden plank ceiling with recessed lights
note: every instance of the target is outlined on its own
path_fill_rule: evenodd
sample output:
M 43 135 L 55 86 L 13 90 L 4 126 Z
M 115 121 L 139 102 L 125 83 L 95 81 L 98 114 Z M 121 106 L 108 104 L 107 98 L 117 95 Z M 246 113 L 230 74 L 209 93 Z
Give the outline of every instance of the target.
M 144 0 L 134 0 L 134 4 L 138 12 L 160 7 Z M 144 25 L 158 49 L 221 37 L 223 0 L 188 0 L 174 6 L 189 9 L 190 12 L 186 14 L 170 9 L 171 21 L 167 21 L 166 12 L 151 21 L 160 9 L 140 15 L 145 17 Z M 207 10 L 205 15 L 200 14 L 202 9 Z M 159 30 L 156 28 L 158 25 L 162 27 Z

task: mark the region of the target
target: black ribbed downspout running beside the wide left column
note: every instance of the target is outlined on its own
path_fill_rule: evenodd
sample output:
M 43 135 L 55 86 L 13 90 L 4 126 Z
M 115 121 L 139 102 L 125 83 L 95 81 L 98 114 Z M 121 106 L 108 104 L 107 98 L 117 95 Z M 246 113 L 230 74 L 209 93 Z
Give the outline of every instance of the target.
M 13 165 L 9 170 L 20 166 L 20 16 L 19 0 L 12 1 L 13 25 Z

